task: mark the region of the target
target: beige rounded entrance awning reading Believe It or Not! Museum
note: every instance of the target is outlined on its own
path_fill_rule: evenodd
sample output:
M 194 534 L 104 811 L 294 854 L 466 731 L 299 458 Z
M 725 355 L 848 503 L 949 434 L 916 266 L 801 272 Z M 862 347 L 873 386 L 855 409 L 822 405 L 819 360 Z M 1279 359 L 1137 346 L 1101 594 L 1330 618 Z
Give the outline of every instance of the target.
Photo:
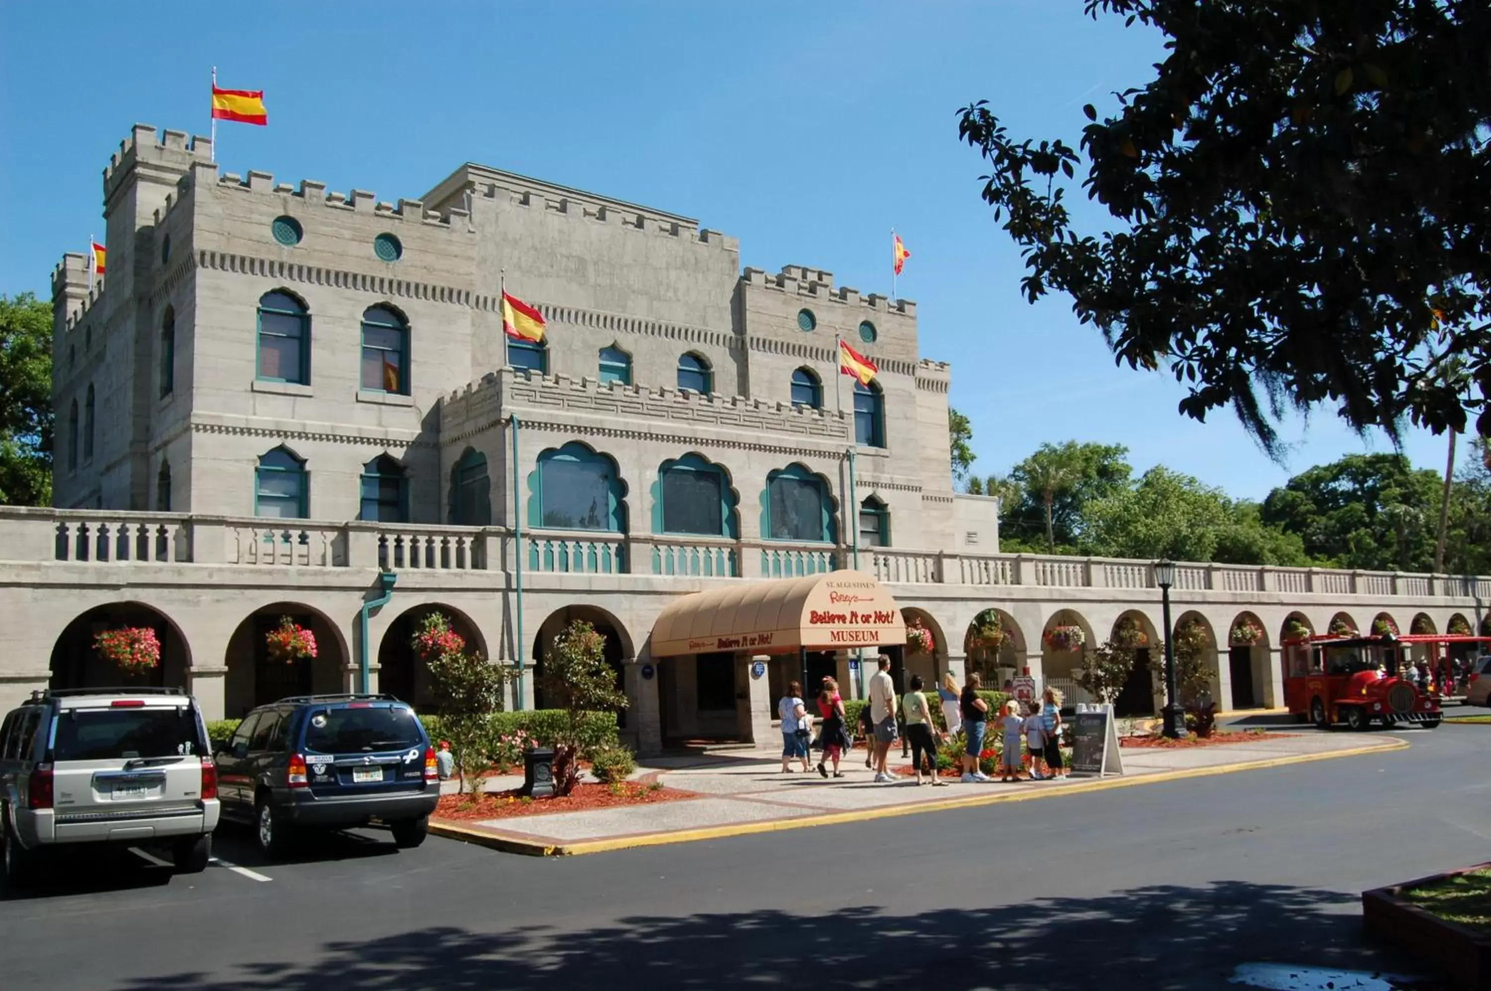
M 750 651 L 895 647 L 907 623 L 874 575 L 830 571 L 805 578 L 732 583 L 672 602 L 653 624 L 653 657 Z

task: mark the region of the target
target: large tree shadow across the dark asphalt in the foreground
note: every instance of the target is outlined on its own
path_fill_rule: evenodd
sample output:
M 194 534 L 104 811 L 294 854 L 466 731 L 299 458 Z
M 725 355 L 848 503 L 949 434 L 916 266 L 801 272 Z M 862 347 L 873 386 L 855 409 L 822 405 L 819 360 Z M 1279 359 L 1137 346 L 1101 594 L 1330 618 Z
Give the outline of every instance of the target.
M 863 864 L 860 864 L 863 867 Z M 832 869 L 826 866 L 826 869 Z M 929 882 L 930 884 L 930 882 Z M 997 887 L 996 873 L 990 884 Z M 1145 887 L 1096 899 L 1032 897 L 999 909 L 880 915 L 878 906 L 805 915 L 784 879 L 780 911 L 634 916 L 583 930 L 498 933 L 426 927 L 331 942 L 313 960 L 259 963 L 227 976 L 182 972 L 131 988 L 338 991 L 406 988 L 1229 988 L 1239 963 L 1278 961 L 1421 973 L 1372 954 L 1357 899 L 1334 891 L 1218 882 Z M 881 900 L 881 896 L 874 896 Z M 886 911 L 895 911 L 895 897 Z M 331 978 L 334 975 L 334 978 Z M 1415 988 L 1433 988 L 1421 984 Z

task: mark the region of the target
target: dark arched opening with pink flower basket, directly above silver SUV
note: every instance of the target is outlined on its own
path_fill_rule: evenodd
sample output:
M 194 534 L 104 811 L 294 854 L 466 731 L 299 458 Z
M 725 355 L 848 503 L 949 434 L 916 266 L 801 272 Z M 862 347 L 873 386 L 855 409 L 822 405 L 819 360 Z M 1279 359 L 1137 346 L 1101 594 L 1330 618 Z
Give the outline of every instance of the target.
M 149 636 L 109 638 L 100 633 L 149 630 L 158 653 L 154 668 L 133 668 L 127 660 L 140 651 L 127 651 L 128 641 L 149 642 Z M 121 659 L 125 659 L 121 663 Z M 191 651 L 186 638 L 160 610 L 142 602 L 110 602 L 78 615 L 52 645 L 52 688 L 166 687 L 189 688 Z

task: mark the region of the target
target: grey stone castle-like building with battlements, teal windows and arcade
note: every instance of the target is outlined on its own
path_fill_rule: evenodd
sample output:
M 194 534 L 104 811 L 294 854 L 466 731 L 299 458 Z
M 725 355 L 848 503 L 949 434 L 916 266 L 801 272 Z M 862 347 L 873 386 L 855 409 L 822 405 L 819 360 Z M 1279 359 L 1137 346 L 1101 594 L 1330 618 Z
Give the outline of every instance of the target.
M 0 681 L 104 677 L 92 633 L 133 623 L 166 641 L 154 677 L 215 714 L 362 686 L 419 699 L 409 639 L 431 610 L 525 668 L 589 618 L 629 735 L 656 747 L 763 732 L 799 671 L 780 651 L 769 677 L 750 650 L 650 651 L 669 602 L 728 583 L 872 575 L 932 630 L 905 657 L 926 675 L 1065 684 L 1082 654 L 1045 644 L 1053 624 L 1088 645 L 1120 621 L 1157 635 L 1147 562 L 1000 554 L 997 502 L 953 490 L 951 371 L 920 356 L 914 303 L 820 268 L 741 270 L 735 238 L 690 218 L 483 165 L 391 204 L 221 174 L 207 140 L 145 125 L 104 170 L 103 209 L 106 274 L 67 255 L 52 280 L 58 508 L 0 511 L 0 602 L 34 617 Z M 504 335 L 504 286 L 544 314 L 543 344 Z M 871 386 L 838 374 L 836 337 L 878 364 Z M 1279 700 L 1290 615 L 1445 629 L 1479 621 L 1491 592 L 1181 574 L 1227 705 Z M 265 657 L 280 615 L 318 630 L 313 662 Z M 1000 617 L 999 647 L 965 636 L 980 615 Z M 1239 617 L 1269 636 L 1232 645 Z M 808 666 L 854 684 L 853 660 Z M 514 703 L 534 690 L 529 674 Z M 1153 694 L 1136 686 L 1139 708 Z

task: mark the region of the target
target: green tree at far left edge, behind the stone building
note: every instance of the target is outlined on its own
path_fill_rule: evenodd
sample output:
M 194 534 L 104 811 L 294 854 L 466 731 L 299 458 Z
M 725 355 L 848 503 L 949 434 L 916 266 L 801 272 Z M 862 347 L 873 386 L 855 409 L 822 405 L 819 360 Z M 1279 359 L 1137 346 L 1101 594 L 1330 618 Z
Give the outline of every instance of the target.
M 52 307 L 0 295 L 0 505 L 52 502 Z

